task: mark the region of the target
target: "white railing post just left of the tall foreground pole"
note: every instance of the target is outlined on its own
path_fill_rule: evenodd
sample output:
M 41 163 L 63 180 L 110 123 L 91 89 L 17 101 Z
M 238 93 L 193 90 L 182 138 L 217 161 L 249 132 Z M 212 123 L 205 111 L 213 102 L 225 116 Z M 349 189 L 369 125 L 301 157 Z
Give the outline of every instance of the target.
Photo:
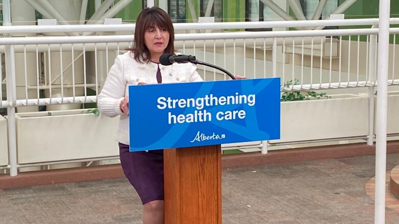
M 378 27 L 373 25 L 372 28 Z M 371 83 L 375 82 L 375 54 L 376 49 L 376 35 L 370 35 L 369 42 L 369 55 L 368 55 L 368 81 Z M 368 87 L 368 138 L 367 145 L 373 145 L 374 143 L 374 85 Z

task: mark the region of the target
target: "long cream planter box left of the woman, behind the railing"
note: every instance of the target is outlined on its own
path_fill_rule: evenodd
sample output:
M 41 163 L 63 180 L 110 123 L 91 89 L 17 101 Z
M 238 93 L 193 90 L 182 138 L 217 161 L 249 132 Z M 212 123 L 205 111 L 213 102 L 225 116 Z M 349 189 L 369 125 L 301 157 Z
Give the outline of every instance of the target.
M 17 113 L 18 163 L 118 156 L 119 117 L 86 111 Z

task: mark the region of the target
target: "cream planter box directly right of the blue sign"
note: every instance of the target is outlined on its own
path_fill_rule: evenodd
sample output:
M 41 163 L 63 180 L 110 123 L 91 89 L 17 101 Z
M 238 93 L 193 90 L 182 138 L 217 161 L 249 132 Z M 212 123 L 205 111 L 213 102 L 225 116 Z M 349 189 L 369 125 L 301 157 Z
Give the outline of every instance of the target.
M 368 135 L 368 98 L 354 94 L 330 99 L 281 102 L 281 139 L 270 143 Z

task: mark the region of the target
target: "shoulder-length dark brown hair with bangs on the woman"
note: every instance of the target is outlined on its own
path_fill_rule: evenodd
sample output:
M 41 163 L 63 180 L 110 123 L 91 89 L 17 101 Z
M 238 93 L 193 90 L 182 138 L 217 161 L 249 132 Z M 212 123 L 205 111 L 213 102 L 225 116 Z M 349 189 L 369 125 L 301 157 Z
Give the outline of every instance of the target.
M 134 59 L 138 62 L 148 63 L 151 60 L 151 53 L 148 51 L 144 42 L 144 33 L 150 27 L 163 28 L 169 32 L 169 43 L 164 53 L 174 55 L 174 30 L 172 20 L 170 20 L 169 15 L 164 10 L 154 6 L 141 11 L 136 20 L 134 45 L 132 48 L 128 48 L 128 50 L 134 53 Z

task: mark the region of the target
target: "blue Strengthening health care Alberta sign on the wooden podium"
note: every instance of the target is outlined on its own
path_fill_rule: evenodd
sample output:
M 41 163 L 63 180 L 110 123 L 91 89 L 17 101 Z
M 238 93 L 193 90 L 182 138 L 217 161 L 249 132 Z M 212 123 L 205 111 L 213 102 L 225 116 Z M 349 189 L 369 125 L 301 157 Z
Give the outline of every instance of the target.
M 280 138 L 280 79 L 129 86 L 130 152 Z

